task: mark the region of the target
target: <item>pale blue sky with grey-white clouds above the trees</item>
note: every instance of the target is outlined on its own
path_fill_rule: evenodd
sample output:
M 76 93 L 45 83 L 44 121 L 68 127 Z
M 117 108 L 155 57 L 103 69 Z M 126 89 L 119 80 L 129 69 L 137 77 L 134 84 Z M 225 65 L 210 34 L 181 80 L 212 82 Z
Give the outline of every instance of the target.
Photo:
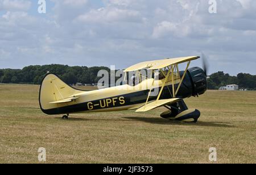
M 256 1 L 0 0 L 0 68 L 207 56 L 209 73 L 256 74 Z M 215 3 L 213 3 L 215 4 Z M 201 60 L 192 66 L 201 66 Z

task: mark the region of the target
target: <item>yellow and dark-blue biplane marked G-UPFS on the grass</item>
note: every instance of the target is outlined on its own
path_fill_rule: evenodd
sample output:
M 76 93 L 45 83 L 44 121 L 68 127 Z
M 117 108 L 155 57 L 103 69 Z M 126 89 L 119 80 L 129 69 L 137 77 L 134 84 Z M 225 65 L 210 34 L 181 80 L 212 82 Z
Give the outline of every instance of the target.
M 162 118 L 183 122 L 197 122 L 199 110 L 188 110 L 183 99 L 198 97 L 207 90 L 205 70 L 189 68 L 192 60 L 199 56 L 145 61 L 125 69 L 127 74 L 135 72 L 133 83 L 92 91 L 75 89 L 60 80 L 55 74 L 47 74 L 40 86 L 39 103 L 43 113 L 63 114 L 68 119 L 72 113 L 136 110 L 146 112 L 166 107 Z M 181 63 L 187 63 L 184 71 Z M 150 76 L 142 76 L 147 70 Z M 129 78 L 128 78 L 129 79 Z

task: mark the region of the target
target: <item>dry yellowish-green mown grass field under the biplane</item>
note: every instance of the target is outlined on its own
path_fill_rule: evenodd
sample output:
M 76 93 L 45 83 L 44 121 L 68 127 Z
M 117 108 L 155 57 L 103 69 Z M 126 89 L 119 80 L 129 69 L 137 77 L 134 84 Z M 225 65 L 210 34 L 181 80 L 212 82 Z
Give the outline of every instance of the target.
M 199 122 L 159 117 L 164 109 L 73 114 L 40 111 L 39 86 L 0 85 L 0 163 L 256 163 L 256 92 L 207 91 L 186 99 Z

